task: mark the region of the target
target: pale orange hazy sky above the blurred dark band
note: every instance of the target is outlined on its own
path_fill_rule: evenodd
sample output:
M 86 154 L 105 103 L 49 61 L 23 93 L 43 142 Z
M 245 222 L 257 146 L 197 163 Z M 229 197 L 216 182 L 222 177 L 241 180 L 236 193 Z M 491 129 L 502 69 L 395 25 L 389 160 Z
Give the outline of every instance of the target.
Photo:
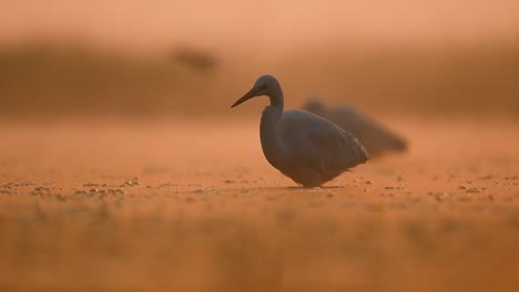
M 63 1 L 0 3 L 0 40 L 80 38 L 126 49 L 191 43 L 264 53 L 326 42 L 513 41 L 519 1 Z

